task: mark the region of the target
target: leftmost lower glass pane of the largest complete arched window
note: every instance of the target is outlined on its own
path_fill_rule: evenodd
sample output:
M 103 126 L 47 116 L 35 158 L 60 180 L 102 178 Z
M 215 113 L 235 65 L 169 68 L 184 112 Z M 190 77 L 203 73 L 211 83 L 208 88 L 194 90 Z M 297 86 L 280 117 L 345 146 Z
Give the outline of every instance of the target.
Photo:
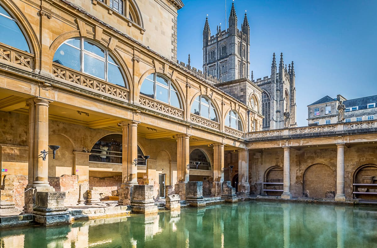
M 80 71 L 80 50 L 62 44 L 55 52 L 53 61 L 73 70 Z

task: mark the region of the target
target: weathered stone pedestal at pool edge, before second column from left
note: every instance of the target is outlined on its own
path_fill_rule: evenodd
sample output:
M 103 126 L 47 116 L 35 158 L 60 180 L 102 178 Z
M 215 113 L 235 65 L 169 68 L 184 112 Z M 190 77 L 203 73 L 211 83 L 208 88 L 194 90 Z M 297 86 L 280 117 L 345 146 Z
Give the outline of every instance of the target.
M 156 214 L 158 207 L 153 200 L 153 185 L 134 185 L 131 198 L 132 212 Z

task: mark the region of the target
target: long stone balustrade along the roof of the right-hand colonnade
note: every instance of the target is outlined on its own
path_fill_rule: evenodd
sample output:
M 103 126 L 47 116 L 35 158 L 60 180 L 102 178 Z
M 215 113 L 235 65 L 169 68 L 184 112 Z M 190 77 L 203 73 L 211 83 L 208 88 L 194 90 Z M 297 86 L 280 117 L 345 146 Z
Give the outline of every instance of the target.
M 340 134 L 362 131 L 377 131 L 377 120 L 359 121 L 359 122 L 342 122 L 337 124 L 294 127 L 290 129 L 276 129 L 247 134 L 247 139 L 258 138 L 282 138 L 288 136 L 316 136 L 326 134 Z

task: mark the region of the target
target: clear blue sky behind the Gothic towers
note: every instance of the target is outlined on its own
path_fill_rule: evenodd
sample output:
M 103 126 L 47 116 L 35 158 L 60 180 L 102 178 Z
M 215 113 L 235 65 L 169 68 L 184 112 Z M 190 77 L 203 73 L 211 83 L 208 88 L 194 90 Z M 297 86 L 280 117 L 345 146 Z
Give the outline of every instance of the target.
M 183 0 L 178 11 L 178 60 L 202 69 L 205 17 L 216 33 L 224 29 L 225 0 Z M 227 18 L 231 0 L 227 0 Z M 307 105 L 329 95 L 347 99 L 377 94 L 377 0 L 235 0 L 238 26 L 247 11 L 250 70 L 271 75 L 272 54 L 294 61 L 297 124 L 307 126 Z

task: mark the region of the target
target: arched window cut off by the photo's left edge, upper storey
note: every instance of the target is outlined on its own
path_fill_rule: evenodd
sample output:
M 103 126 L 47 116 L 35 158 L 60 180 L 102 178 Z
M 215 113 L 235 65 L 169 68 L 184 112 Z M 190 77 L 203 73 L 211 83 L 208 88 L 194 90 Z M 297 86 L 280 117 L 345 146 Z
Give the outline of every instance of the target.
M 17 21 L 0 6 L 0 42 L 30 53 L 25 36 Z

